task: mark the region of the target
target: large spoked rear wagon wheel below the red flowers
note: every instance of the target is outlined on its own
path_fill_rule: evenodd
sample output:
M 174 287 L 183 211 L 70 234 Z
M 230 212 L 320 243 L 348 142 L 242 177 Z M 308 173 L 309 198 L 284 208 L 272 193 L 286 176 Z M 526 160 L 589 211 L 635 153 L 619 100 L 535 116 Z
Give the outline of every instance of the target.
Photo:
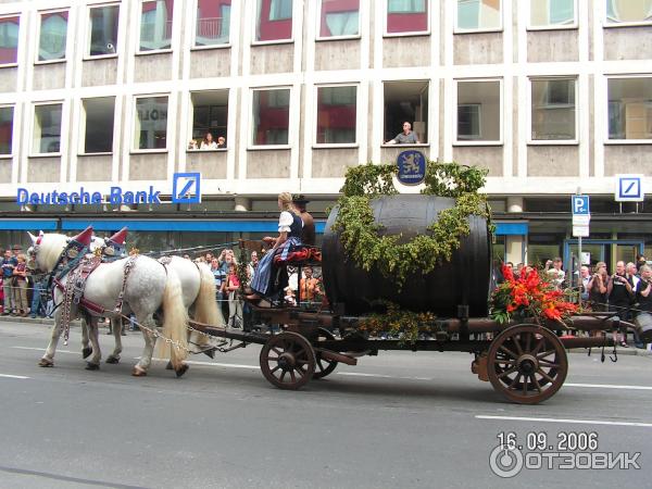
M 568 359 L 554 333 L 523 324 L 509 327 L 491 342 L 487 369 L 497 391 L 511 401 L 536 404 L 560 390 Z

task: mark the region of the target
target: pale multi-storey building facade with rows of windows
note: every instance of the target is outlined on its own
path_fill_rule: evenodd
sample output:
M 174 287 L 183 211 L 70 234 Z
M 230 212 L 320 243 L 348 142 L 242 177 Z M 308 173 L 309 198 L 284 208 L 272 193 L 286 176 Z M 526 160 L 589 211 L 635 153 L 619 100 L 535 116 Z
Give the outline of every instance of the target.
M 652 230 L 613 202 L 652 173 L 652 0 L 2 1 L 0 242 L 29 220 L 255 235 L 279 191 L 323 211 L 349 166 L 396 161 L 403 122 L 411 149 L 488 168 L 501 258 L 572 254 L 580 188 L 592 261 L 628 259 Z M 175 173 L 201 173 L 201 204 L 168 203 Z M 46 199 L 82 187 L 101 202 Z

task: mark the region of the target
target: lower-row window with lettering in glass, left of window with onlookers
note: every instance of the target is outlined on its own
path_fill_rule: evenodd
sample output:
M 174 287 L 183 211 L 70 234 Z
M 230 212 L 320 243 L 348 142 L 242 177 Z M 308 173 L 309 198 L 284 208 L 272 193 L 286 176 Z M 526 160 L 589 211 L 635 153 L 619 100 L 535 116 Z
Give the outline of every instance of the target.
M 167 96 L 136 99 L 134 148 L 167 148 Z

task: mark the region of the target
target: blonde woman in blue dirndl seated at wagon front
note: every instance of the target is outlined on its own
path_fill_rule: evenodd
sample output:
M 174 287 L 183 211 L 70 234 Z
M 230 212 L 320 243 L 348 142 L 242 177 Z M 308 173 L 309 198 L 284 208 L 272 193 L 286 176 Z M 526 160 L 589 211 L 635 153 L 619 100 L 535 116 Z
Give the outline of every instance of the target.
M 272 249 L 261 259 L 255 269 L 250 286 L 253 293 L 247 296 L 250 301 L 259 301 L 263 297 L 271 298 L 283 290 L 287 277 L 285 280 L 277 280 L 278 268 L 274 265 L 274 258 L 280 256 L 285 260 L 294 248 L 301 246 L 303 221 L 299 210 L 292 203 L 291 193 L 278 195 L 278 209 L 281 211 L 278 216 L 278 237 L 263 238 L 263 241 L 272 244 Z

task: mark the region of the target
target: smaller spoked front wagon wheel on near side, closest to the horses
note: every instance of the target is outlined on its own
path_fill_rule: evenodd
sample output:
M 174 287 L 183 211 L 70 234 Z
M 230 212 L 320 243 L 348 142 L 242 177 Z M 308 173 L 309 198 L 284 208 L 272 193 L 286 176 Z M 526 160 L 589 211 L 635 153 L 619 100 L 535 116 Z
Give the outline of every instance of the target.
M 272 336 L 261 349 L 260 361 L 265 378 L 280 389 L 297 390 L 315 373 L 315 352 L 310 342 L 296 333 Z

